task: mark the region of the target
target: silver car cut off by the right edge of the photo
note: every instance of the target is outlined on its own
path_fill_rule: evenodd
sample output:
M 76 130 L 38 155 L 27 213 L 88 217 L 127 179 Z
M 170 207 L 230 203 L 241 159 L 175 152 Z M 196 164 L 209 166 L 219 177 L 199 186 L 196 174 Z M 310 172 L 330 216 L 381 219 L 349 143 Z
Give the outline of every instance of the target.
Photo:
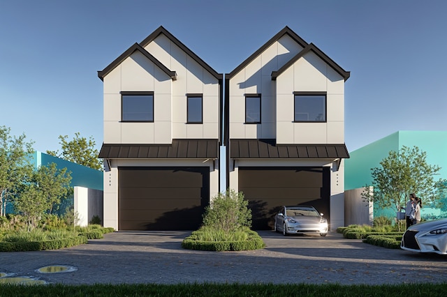
M 447 219 L 413 224 L 402 236 L 400 248 L 409 252 L 447 254 Z

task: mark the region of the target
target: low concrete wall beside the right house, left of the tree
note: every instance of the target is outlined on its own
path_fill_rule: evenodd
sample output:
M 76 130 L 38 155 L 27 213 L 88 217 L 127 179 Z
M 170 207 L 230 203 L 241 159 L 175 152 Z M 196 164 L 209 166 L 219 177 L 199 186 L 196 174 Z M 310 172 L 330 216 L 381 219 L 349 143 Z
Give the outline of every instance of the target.
M 372 189 L 371 189 L 372 190 Z M 344 225 L 369 224 L 374 219 L 374 206 L 371 201 L 362 198 L 364 188 L 344 192 Z

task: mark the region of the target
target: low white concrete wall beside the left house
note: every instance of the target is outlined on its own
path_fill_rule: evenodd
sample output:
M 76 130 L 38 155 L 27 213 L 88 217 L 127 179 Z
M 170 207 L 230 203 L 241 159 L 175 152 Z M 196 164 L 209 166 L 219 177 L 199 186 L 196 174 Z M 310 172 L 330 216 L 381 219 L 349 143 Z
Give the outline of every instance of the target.
M 83 187 L 74 188 L 75 214 L 78 215 L 78 226 L 87 226 L 94 215 L 104 222 L 103 191 Z

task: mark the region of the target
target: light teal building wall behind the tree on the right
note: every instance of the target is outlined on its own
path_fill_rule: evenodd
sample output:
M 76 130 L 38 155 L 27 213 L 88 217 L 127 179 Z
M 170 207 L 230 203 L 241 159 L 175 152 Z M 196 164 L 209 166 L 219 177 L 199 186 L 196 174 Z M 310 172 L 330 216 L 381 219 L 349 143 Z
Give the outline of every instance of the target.
M 427 153 L 427 163 L 441 167 L 439 175 L 447 179 L 447 131 L 397 131 L 349 153 L 344 162 L 344 188 L 352 190 L 372 183 L 371 169 L 379 167 L 389 151 L 399 151 L 402 146 L 417 146 Z M 439 209 L 424 207 L 422 215 L 441 215 Z M 379 211 L 374 207 L 374 216 L 395 215 L 390 210 Z

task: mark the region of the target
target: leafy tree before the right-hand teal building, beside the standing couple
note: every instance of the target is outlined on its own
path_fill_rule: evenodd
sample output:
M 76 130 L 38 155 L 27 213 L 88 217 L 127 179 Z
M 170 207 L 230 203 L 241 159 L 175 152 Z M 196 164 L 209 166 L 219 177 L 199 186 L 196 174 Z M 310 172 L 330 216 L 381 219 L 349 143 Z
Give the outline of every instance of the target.
M 380 162 L 381 167 L 371 169 L 374 191 L 365 187 L 363 196 L 375 201 L 381 208 L 393 207 L 395 211 L 404 208 L 411 193 L 416 193 L 424 204 L 439 201 L 442 192 L 434 181 L 441 167 L 429 165 L 427 153 L 417 146 L 402 146 L 400 151 L 390 151 L 388 157 Z

